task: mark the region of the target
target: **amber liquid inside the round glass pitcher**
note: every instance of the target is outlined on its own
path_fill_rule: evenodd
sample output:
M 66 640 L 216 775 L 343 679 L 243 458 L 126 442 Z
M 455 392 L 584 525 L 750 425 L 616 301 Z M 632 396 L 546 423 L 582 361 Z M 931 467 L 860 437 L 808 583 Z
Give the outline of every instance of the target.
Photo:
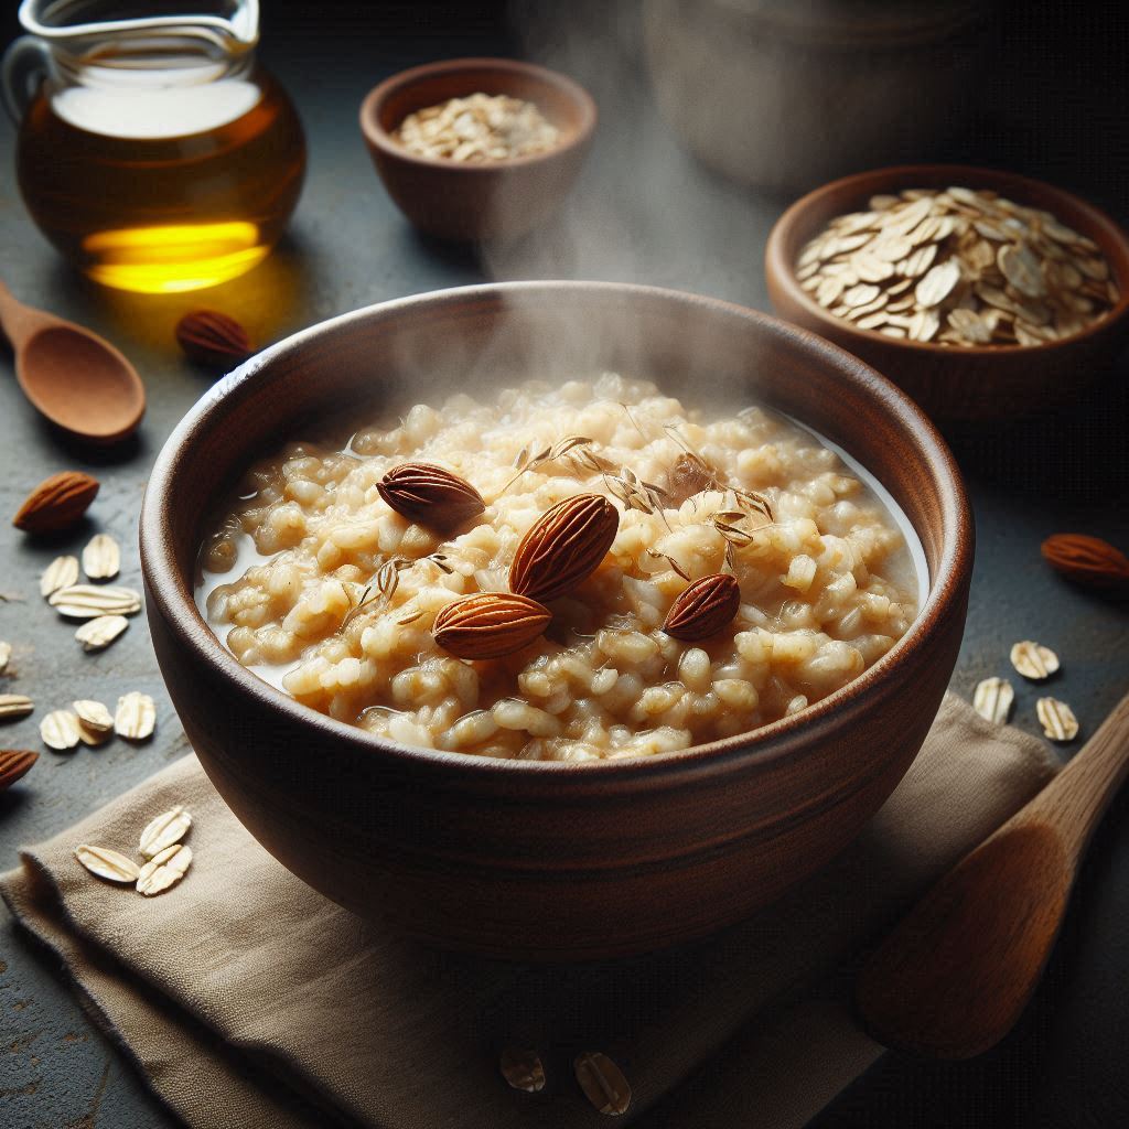
M 195 290 L 278 242 L 306 167 L 301 124 L 261 68 L 147 89 L 44 87 L 20 126 L 24 201 L 47 238 L 106 286 Z

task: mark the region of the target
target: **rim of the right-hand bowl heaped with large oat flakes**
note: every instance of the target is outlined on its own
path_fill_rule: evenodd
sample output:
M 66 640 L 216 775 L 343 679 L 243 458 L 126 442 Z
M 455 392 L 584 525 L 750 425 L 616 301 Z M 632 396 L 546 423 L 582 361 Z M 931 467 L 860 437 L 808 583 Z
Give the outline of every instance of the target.
M 886 336 L 877 330 L 859 329 L 854 322 L 849 322 L 844 317 L 835 317 L 815 301 L 799 285 L 799 280 L 796 278 L 795 265 L 787 255 L 786 248 L 788 243 L 797 233 L 800 238 L 809 238 L 814 234 L 805 233 L 804 228 L 812 212 L 828 196 L 840 191 L 847 194 L 846 190 L 848 189 L 850 190 L 849 194 L 861 196 L 864 194 L 881 192 L 883 189 L 928 186 L 911 184 L 910 178 L 914 176 L 922 176 L 927 180 L 951 177 L 954 183 L 960 183 L 957 177 L 970 176 L 979 182 L 970 184 L 970 187 L 995 190 L 995 185 L 1000 185 L 999 191 L 1006 192 L 1014 192 L 1016 189 L 1022 192 L 1024 189 L 1029 189 L 1044 193 L 1052 199 L 1057 198 L 1058 200 L 1066 201 L 1071 209 L 1085 218 L 1086 225 L 1089 225 L 1088 230 L 1082 231 L 1083 235 L 1093 238 L 1104 253 L 1105 247 L 1102 239 L 1095 236 L 1095 231 L 1100 233 L 1105 240 L 1118 245 L 1121 250 L 1121 256 L 1129 262 L 1129 235 L 1126 234 L 1121 226 L 1101 208 L 1089 203 L 1087 200 L 1083 200 L 1073 192 L 1068 192 L 1066 189 L 1060 189 L 1056 184 L 1024 176 L 1021 173 L 1012 173 L 1008 169 L 987 168 L 980 165 L 887 165 L 881 168 L 868 169 L 864 173 L 852 173 L 850 176 L 842 176 L 835 181 L 829 181 L 826 184 L 821 184 L 817 189 L 813 189 L 793 203 L 776 224 L 772 225 L 772 230 L 769 233 L 768 243 L 764 247 L 764 273 L 769 280 L 774 282 L 787 294 L 790 300 L 799 305 L 821 324 L 833 327 L 837 335 L 842 339 L 854 339 L 865 343 L 881 343 L 884 348 L 892 350 L 893 353 L 903 350 L 907 353 L 917 352 L 939 357 L 984 358 L 1033 356 L 1069 349 L 1092 336 L 1106 333 L 1129 316 L 1129 278 L 1118 277 L 1117 263 L 1111 262 L 1110 269 L 1117 278 L 1121 294 L 1110 310 L 1078 333 L 1071 333 L 1070 336 L 1059 338 L 1056 341 L 1043 341 L 1038 345 L 964 345 L 954 349 L 947 345 L 935 344 L 931 341 L 910 341 L 903 338 Z M 1017 200 L 1016 203 L 1022 204 L 1023 201 Z M 1027 204 L 1025 207 L 1035 208 L 1040 205 Z M 1071 221 L 1071 226 L 1078 225 Z

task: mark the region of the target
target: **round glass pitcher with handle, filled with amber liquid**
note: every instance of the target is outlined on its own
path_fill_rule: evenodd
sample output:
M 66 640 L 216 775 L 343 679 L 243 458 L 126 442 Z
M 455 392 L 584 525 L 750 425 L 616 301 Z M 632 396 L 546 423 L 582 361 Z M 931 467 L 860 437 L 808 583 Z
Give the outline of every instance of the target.
M 306 145 L 255 62 L 257 0 L 24 0 L 19 19 L 29 34 L 3 60 L 19 187 L 71 262 L 107 286 L 167 292 L 270 253 Z

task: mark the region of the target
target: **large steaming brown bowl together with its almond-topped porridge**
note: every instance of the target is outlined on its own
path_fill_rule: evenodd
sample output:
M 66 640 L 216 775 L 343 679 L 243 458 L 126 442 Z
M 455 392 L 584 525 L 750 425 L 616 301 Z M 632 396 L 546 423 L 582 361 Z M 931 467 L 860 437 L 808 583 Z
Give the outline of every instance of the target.
M 708 934 L 857 834 L 947 684 L 972 531 L 856 358 L 525 282 L 236 369 L 141 546 L 169 693 L 259 841 L 408 935 L 548 960 Z

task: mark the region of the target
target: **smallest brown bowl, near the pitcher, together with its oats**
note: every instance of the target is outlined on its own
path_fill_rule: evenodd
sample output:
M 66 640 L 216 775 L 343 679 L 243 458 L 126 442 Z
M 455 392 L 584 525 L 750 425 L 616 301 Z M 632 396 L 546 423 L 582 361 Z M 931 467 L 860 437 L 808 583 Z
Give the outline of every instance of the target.
M 510 59 L 448 59 L 385 79 L 360 107 L 396 207 L 444 239 L 514 238 L 572 187 L 596 105 L 570 78 Z

